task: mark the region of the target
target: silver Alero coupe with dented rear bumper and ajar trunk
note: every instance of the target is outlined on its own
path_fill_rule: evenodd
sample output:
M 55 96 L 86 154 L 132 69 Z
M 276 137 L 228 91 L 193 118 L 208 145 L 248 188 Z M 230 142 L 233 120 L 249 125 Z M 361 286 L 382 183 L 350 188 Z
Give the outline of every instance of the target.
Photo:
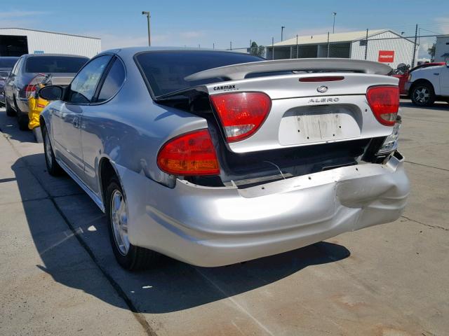
M 91 59 L 41 113 L 48 172 L 107 214 L 127 269 L 228 265 L 395 221 L 409 182 L 388 66 L 213 50 Z

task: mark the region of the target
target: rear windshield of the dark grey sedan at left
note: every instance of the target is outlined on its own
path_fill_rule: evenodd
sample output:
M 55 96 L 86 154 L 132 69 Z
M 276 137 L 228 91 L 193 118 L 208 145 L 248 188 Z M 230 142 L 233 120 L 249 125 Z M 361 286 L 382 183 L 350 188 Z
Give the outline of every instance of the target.
M 42 56 L 29 57 L 25 72 L 76 73 L 88 61 L 85 57 Z

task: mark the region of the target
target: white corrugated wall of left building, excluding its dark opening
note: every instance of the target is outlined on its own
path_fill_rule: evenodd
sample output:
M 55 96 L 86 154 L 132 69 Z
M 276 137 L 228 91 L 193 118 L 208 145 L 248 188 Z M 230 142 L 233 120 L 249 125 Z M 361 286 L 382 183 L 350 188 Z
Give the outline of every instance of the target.
M 28 52 L 72 54 L 93 57 L 101 52 L 101 40 L 83 36 L 18 28 L 0 28 L 0 35 L 27 36 Z

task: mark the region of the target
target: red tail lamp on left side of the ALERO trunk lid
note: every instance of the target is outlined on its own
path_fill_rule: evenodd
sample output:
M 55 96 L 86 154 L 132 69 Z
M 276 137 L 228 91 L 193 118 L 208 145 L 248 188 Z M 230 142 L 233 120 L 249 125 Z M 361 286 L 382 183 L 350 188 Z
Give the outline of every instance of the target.
M 220 118 L 227 142 L 253 135 L 272 109 L 272 99 L 263 92 L 213 94 L 210 102 Z

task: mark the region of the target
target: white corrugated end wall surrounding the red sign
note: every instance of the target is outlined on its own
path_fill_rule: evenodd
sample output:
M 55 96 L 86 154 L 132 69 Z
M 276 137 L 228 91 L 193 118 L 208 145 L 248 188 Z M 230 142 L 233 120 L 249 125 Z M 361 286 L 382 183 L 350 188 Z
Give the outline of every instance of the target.
M 377 38 L 386 39 L 379 40 Z M 391 66 L 393 69 L 396 68 L 399 63 L 412 63 L 413 42 L 407 40 L 406 38 L 401 38 L 389 31 L 368 37 L 368 52 L 366 59 L 368 61 L 377 62 L 379 59 L 379 50 L 394 50 L 394 61 L 391 63 L 385 63 Z M 362 41 L 362 43 L 361 41 L 355 41 L 351 43 L 351 58 L 365 59 L 364 41 Z

